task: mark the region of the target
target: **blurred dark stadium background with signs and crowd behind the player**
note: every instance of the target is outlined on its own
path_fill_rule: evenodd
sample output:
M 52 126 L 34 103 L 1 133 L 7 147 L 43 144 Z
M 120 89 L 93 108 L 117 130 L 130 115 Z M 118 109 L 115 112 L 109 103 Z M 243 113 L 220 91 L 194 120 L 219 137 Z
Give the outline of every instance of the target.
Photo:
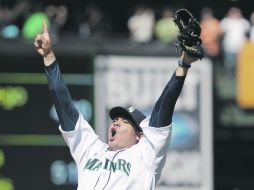
M 189 9 L 200 20 L 207 56 L 190 71 L 188 85 L 193 88 L 184 89 L 179 99 L 174 115 L 178 128 L 158 189 L 253 190 L 252 5 L 250 0 L 0 0 L 0 190 L 77 186 L 75 164 L 59 135 L 42 60 L 33 47 L 42 19 L 50 26 L 75 105 L 105 140 L 100 126 L 107 125 L 107 109 L 116 95 L 107 85 L 117 85 L 114 78 L 109 80 L 112 73 L 120 70 L 130 76 L 120 82 L 126 90 L 134 86 L 131 95 L 144 84 L 149 87 L 150 79 L 158 82 L 150 91 L 141 89 L 155 93 L 144 96 L 144 104 L 136 101 L 149 114 L 147 102 L 156 98 L 179 55 L 174 46 L 177 31 L 170 20 L 179 8 Z M 225 24 L 230 15 L 239 20 Z M 237 34 L 231 42 L 240 39 L 235 51 L 227 51 L 224 44 L 227 29 Z M 198 69 L 202 64 L 207 66 Z M 203 72 L 207 78 L 202 78 Z M 191 94 L 197 95 L 196 109 Z M 119 102 L 128 105 L 133 99 L 120 97 Z

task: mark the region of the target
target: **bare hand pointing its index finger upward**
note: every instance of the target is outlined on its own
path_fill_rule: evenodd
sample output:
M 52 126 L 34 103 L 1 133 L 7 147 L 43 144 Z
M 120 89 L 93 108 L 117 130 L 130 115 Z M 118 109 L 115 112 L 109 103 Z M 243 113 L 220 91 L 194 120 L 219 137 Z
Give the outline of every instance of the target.
M 37 34 L 34 46 L 41 56 L 46 57 L 51 51 L 51 40 L 45 20 L 42 22 L 42 28 L 43 32 Z

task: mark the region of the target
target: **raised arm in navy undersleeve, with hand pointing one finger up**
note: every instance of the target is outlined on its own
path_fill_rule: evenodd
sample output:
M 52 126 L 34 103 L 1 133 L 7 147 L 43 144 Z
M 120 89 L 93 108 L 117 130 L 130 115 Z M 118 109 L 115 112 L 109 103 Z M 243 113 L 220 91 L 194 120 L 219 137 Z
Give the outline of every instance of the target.
M 61 127 L 65 131 L 71 131 L 75 128 L 79 113 L 72 103 L 68 88 L 61 76 L 55 54 L 51 48 L 51 40 L 45 21 L 42 25 L 43 32 L 35 38 L 34 46 L 43 57 L 49 91 L 53 97 Z

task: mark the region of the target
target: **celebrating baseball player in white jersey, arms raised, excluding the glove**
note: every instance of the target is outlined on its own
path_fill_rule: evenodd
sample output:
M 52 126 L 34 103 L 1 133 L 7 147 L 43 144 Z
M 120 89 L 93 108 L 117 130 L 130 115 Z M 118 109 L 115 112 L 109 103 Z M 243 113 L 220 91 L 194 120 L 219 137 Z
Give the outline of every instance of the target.
M 60 120 L 59 130 L 77 165 L 78 190 L 154 189 L 166 159 L 175 103 L 191 63 L 198 58 L 182 52 L 179 66 L 150 117 L 134 107 L 112 108 L 108 142 L 104 143 L 72 103 L 45 22 L 34 45 L 44 60 L 49 91 Z

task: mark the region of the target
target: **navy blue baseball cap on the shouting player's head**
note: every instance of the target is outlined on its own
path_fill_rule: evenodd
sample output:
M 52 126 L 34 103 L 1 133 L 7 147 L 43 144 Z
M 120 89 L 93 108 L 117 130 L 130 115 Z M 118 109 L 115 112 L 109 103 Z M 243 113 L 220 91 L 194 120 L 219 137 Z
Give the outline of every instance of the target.
M 109 116 L 112 120 L 117 117 L 125 118 L 134 124 L 137 131 L 143 132 L 140 127 L 140 123 L 146 118 L 146 116 L 134 107 L 129 107 L 128 109 L 119 106 L 113 107 L 109 111 Z

